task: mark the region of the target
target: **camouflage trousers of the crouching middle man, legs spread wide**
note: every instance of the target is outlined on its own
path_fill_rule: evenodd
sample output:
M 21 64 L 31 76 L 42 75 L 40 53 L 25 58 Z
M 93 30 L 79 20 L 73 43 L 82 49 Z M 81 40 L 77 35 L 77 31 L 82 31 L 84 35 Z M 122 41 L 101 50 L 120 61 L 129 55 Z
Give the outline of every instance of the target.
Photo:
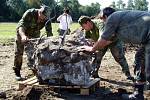
M 122 68 L 123 73 L 130 73 L 129 66 L 126 61 L 126 58 L 124 56 L 124 48 L 122 45 L 122 42 L 120 40 L 117 40 L 116 42 L 113 42 L 112 44 L 108 45 L 107 47 L 100 49 L 99 52 L 97 52 L 96 57 L 94 59 L 94 63 L 96 65 L 95 73 L 98 73 L 98 69 L 100 68 L 101 60 L 103 56 L 105 55 L 106 51 L 110 49 L 112 56 L 114 57 L 115 61 L 118 62 Z

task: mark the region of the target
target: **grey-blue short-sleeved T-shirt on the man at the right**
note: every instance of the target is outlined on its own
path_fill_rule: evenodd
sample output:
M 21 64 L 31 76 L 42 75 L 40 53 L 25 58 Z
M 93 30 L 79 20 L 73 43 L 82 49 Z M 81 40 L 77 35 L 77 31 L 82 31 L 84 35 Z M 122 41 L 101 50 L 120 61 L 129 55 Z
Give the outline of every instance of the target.
M 150 13 L 144 11 L 117 11 L 106 21 L 101 38 L 141 44 L 150 40 Z

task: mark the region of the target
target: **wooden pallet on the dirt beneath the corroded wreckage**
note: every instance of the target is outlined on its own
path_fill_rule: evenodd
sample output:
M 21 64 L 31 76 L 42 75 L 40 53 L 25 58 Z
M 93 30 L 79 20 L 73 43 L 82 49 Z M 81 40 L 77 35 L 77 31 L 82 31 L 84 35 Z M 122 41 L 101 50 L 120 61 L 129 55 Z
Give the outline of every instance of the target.
M 79 85 L 75 85 L 75 86 L 58 86 L 58 85 L 40 85 L 38 82 L 38 79 L 34 76 L 30 79 L 27 79 L 25 81 L 19 82 L 19 90 L 24 89 L 27 86 L 39 86 L 39 87 L 47 87 L 51 90 L 54 89 L 71 89 L 71 90 L 78 90 L 80 92 L 80 95 L 89 95 L 90 93 L 95 92 L 96 88 L 99 87 L 99 81 L 100 78 L 93 78 L 91 79 L 91 81 L 85 85 L 85 86 L 79 86 Z

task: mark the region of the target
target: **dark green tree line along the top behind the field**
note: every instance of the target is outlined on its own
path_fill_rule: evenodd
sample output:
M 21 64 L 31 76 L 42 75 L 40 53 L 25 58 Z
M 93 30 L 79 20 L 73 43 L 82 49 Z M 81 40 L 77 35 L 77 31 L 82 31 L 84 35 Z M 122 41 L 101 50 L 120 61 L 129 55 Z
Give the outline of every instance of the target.
M 73 21 L 77 21 L 81 15 L 95 16 L 101 9 L 99 3 L 83 6 L 78 0 L 0 0 L 0 22 L 17 22 L 27 9 L 40 8 L 42 4 L 51 8 L 53 22 L 63 13 L 64 7 L 70 9 Z M 128 0 L 127 4 L 123 0 L 117 0 L 112 2 L 110 6 L 116 10 L 148 11 L 146 0 Z

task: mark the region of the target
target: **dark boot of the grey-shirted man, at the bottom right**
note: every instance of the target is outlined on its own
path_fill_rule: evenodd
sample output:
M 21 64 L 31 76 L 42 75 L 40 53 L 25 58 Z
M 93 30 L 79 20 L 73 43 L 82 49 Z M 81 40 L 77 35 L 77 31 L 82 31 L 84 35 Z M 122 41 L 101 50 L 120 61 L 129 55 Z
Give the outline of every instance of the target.
M 123 100 L 144 100 L 144 85 L 135 85 L 135 91 L 132 94 L 122 94 Z

